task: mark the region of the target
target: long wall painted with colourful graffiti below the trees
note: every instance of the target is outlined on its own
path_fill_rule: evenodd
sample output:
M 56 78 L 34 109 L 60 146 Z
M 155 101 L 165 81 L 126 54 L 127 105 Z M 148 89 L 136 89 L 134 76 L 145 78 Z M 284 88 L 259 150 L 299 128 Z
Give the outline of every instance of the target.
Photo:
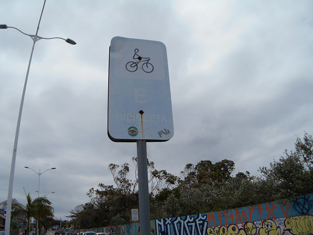
M 140 235 L 140 225 L 111 226 L 101 232 L 111 231 Z M 313 235 L 313 194 L 231 210 L 153 220 L 151 235 Z

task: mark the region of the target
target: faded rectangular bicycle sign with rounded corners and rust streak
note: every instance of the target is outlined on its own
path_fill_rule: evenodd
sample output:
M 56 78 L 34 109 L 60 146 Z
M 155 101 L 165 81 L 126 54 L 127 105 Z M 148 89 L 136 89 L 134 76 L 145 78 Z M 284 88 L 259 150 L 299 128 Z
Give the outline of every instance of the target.
M 114 37 L 109 58 L 108 136 L 116 142 L 168 141 L 174 135 L 166 47 Z

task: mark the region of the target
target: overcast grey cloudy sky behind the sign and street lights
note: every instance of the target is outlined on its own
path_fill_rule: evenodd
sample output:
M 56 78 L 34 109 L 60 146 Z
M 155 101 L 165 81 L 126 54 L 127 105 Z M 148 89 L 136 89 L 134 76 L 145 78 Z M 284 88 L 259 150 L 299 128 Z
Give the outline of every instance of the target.
M 0 0 L 0 24 L 35 34 L 44 0 Z M 110 163 L 135 143 L 107 135 L 109 46 L 115 36 L 165 44 L 174 137 L 147 143 L 156 169 L 201 160 L 259 167 L 313 134 L 312 0 L 47 0 L 22 113 L 13 197 L 49 194 L 57 218 L 113 185 Z M 16 123 L 33 41 L 0 29 L 0 202 L 7 199 Z M 130 173 L 132 177 L 134 172 Z

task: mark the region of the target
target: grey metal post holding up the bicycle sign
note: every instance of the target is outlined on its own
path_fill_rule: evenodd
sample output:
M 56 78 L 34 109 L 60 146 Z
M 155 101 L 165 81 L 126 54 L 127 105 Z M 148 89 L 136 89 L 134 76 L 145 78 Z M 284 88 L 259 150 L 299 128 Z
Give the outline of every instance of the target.
M 147 141 L 137 140 L 140 235 L 150 235 Z

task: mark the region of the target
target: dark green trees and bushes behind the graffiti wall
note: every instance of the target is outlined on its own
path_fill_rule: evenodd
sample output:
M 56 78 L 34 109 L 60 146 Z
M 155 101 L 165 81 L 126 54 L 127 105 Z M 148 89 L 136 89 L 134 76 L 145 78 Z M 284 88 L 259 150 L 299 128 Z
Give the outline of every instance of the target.
M 103 227 L 131 222 L 131 209 L 138 208 L 137 159 L 134 181 L 128 178 L 129 164 L 110 164 L 116 188 L 99 184 L 90 188 L 90 202 L 71 212 L 77 228 Z M 305 133 L 297 138 L 295 151 L 285 151 L 279 161 L 260 167 L 261 176 L 239 172 L 232 176 L 235 164 L 222 160 L 213 164 L 200 161 L 186 164 L 180 176 L 156 170 L 148 161 L 150 218 L 182 215 L 245 207 L 264 202 L 313 193 L 313 138 Z

